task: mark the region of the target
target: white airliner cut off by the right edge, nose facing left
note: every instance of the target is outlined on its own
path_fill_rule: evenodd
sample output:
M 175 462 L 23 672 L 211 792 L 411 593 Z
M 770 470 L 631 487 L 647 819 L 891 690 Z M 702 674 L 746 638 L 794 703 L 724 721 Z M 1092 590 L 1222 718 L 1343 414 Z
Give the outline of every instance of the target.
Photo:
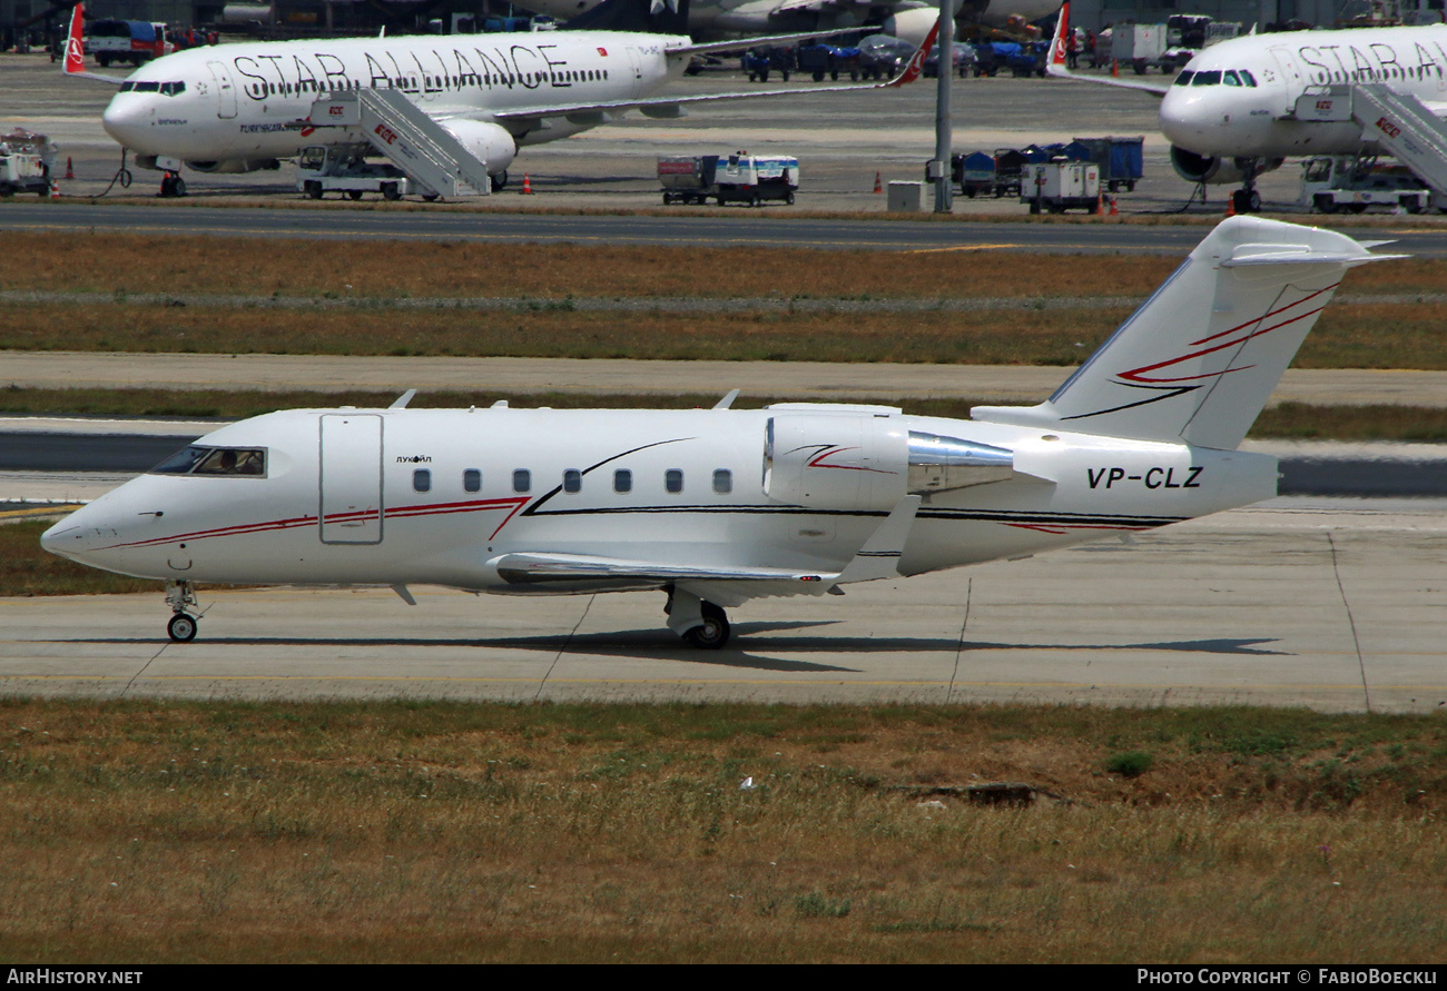
M 1304 120 L 1297 101 L 1331 85 L 1385 84 L 1447 116 L 1447 25 L 1244 35 L 1201 51 L 1174 82 L 1075 75 L 1065 68 L 1061 10 L 1051 75 L 1160 97 L 1171 163 L 1191 182 L 1242 182 L 1236 210 L 1260 208 L 1256 176 L 1297 155 L 1356 155 L 1367 145 L 1351 120 Z

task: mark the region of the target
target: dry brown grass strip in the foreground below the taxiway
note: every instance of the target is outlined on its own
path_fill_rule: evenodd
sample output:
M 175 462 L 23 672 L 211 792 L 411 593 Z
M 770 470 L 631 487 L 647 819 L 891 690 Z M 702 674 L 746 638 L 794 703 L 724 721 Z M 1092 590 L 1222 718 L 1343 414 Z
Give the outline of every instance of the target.
M 1444 739 L 1289 710 L 13 700 L 0 955 L 1427 962 Z M 1113 777 L 1121 749 L 1153 768 Z M 920 804 L 978 780 L 1068 801 Z

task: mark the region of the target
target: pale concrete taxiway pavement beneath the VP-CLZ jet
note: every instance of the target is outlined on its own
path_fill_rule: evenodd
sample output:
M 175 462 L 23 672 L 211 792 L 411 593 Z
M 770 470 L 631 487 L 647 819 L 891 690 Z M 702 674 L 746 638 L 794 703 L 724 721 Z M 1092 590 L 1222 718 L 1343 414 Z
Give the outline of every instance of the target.
M 1020 702 L 1447 713 L 1441 502 L 1275 501 L 1037 558 L 767 599 L 710 652 L 663 596 L 200 590 L 0 599 L 0 692 L 78 697 Z

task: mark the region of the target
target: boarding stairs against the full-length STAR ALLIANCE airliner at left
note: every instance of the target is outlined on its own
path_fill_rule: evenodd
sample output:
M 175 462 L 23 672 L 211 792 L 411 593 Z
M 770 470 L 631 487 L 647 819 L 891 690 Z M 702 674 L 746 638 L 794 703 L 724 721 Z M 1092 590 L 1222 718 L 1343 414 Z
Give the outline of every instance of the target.
M 492 192 L 488 163 L 401 90 L 327 94 L 311 104 L 308 123 L 317 129 L 360 130 L 372 148 L 434 195 L 456 198 Z

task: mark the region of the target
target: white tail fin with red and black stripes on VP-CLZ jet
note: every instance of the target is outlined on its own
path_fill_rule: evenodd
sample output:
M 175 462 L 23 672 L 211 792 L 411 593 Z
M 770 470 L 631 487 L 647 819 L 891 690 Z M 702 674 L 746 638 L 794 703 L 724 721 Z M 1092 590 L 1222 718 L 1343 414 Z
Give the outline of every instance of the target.
M 1233 217 L 1037 407 L 974 420 L 1233 450 L 1266 405 L 1349 268 L 1344 234 Z

